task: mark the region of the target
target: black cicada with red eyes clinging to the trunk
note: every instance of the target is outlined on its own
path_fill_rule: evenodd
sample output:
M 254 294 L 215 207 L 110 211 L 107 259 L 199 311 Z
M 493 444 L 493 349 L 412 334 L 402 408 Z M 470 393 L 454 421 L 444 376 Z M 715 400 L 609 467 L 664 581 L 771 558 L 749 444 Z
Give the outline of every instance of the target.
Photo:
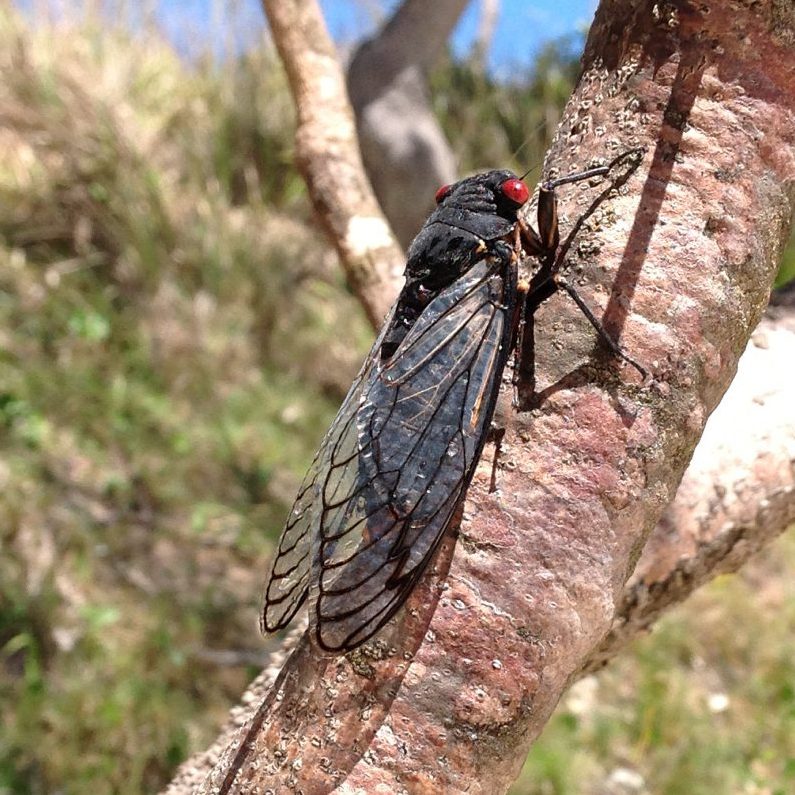
M 523 313 L 560 287 L 572 292 L 558 278 L 555 188 L 618 162 L 543 184 L 538 232 L 519 219 L 530 191 L 511 171 L 439 189 L 409 247 L 405 285 L 282 532 L 265 631 L 308 602 L 317 645 L 344 653 L 405 602 L 466 495 Z M 522 289 L 524 256 L 539 268 Z

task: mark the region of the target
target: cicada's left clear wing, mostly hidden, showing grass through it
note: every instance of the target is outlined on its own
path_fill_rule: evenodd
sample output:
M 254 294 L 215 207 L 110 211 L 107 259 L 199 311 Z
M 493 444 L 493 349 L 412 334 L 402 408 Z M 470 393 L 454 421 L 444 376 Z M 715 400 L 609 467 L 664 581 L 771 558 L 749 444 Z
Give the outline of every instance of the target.
M 387 318 L 385 328 L 389 325 L 389 319 Z M 317 547 L 311 543 L 311 539 L 320 532 L 319 525 L 324 511 L 322 484 L 333 468 L 332 462 L 336 461 L 337 466 L 343 467 L 348 462 L 349 470 L 341 474 L 347 478 L 356 477 L 358 440 L 350 429 L 355 427 L 363 385 L 374 366 L 382 338 L 383 333 L 365 359 L 321 442 L 282 531 L 265 589 L 262 613 L 262 628 L 265 632 L 276 632 L 286 627 L 309 594 L 312 550 Z

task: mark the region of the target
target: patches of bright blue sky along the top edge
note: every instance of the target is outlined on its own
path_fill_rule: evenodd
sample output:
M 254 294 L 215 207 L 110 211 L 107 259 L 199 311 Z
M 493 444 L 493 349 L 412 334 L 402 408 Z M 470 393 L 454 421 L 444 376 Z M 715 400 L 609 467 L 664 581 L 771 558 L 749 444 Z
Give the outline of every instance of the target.
M 46 0 L 55 15 L 74 15 L 83 0 Z M 371 33 L 399 0 L 320 0 L 326 21 L 335 40 L 347 47 Z M 433 2 L 433 0 L 428 0 Z M 118 7 L 118 0 L 105 0 L 105 8 Z M 42 2 L 16 0 L 26 9 L 42 7 Z M 132 24 L 140 23 L 142 2 L 125 4 Z M 186 55 L 228 49 L 229 42 L 219 41 L 219 15 L 234 8 L 235 44 L 240 48 L 261 35 L 265 24 L 260 0 L 156 0 L 156 14 L 166 35 Z M 583 31 L 593 18 L 597 0 L 500 0 L 489 65 L 496 73 L 510 74 L 530 63 L 548 41 Z M 109 12 L 110 13 L 110 12 Z M 453 50 L 467 52 L 477 31 L 480 3 L 472 0 L 453 35 Z M 229 31 L 229 26 L 221 27 Z M 215 34 L 214 34 L 215 32 Z

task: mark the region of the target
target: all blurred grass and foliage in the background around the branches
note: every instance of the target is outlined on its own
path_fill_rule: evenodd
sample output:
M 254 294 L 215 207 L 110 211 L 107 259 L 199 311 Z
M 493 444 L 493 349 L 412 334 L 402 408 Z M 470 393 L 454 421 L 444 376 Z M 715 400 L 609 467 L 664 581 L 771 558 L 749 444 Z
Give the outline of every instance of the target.
M 540 164 L 579 46 L 437 70 L 462 172 Z M 157 791 L 274 643 L 266 562 L 371 339 L 292 132 L 265 44 L 0 4 L 3 795 Z M 514 792 L 795 791 L 794 565 L 790 535 L 576 685 Z

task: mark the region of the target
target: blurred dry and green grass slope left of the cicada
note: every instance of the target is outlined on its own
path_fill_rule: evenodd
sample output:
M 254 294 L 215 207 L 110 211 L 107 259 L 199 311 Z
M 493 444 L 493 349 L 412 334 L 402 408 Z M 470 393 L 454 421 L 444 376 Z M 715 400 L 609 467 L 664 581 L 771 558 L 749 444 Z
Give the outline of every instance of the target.
M 269 51 L 190 68 L 2 11 L 0 83 L 0 792 L 152 791 L 254 670 L 211 653 L 262 649 L 370 331 Z

